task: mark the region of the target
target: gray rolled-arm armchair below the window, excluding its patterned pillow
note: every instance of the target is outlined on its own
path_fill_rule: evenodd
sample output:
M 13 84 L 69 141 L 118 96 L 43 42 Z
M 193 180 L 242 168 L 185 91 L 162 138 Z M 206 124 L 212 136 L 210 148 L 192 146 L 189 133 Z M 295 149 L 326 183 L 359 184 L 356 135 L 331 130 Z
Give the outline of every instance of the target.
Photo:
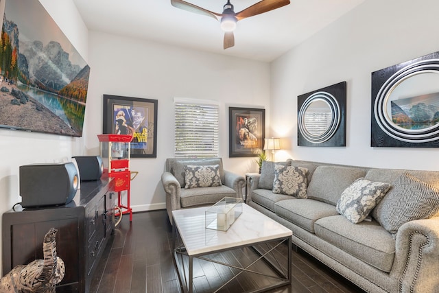
M 186 165 L 219 165 L 222 185 L 185 189 Z M 166 192 L 166 209 L 171 224 L 171 211 L 215 204 L 225 196 L 242 198 L 242 189 L 246 186 L 244 176 L 223 169 L 221 158 L 166 159 L 165 172 L 161 180 Z

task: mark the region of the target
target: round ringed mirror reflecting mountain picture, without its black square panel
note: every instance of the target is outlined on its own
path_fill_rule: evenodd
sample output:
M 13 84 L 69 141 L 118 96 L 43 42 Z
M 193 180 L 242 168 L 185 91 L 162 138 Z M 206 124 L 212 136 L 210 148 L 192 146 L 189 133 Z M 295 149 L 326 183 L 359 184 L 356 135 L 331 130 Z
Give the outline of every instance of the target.
M 439 139 L 439 60 L 422 60 L 394 73 L 375 99 L 375 119 L 390 137 L 410 143 Z

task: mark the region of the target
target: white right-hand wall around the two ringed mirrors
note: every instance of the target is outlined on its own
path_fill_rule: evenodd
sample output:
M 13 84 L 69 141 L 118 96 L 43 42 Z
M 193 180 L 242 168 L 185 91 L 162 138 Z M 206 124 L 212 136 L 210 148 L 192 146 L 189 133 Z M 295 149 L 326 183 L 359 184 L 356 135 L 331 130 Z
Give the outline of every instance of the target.
M 270 131 L 292 145 L 283 156 L 437 170 L 435 148 L 370 147 L 370 95 L 373 71 L 439 51 L 438 11 L 436 0 L 368 0 L 272 62 Z M 297 96 L 342 81 L 347 82 L 346 147 L 298 147 Z

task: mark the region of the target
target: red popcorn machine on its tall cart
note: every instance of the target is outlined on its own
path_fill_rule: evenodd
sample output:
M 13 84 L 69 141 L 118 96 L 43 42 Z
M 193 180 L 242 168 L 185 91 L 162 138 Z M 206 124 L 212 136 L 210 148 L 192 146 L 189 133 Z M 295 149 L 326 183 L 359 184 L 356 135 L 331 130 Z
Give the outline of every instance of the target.
M 113 177 L 113 191 L 117 192 L 117 208 L 115 218 L 129 213 L 132 222 L 132 209 L 130 206 L 130 181 L 137 176 L 138 172 L 130 172 L 130 142 L 131 135 L 125 134 L 98 134 L 100 142 L 101 157 L 104 163 L 104 173 L 102 176 Z M 134 174 L 134 176 L 132 176 Z M 122 191 L 126 191 L 126 204 L 123 204 Z

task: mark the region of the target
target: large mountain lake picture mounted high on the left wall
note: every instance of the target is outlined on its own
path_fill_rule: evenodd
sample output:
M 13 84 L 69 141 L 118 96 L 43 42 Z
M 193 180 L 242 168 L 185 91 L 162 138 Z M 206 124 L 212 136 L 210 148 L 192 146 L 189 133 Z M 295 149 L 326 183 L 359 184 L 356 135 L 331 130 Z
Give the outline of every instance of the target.
M 40 1 L 0 8 L 0 127 L 81 137 L 90 67 Z

